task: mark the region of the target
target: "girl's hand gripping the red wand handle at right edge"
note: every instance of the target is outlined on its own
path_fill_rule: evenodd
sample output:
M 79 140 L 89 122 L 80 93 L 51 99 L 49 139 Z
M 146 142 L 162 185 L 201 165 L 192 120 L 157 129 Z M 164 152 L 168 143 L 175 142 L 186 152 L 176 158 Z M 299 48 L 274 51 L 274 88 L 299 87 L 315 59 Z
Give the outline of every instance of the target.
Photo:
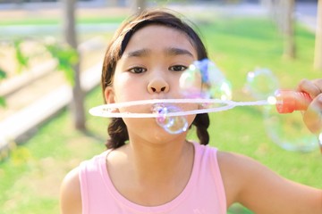
M 297 90 L 308 93 L 313 99 L 308 110 L 303 113 L 305 125 L 314 134 L 322 133 L 322 78 L 302 79 Z

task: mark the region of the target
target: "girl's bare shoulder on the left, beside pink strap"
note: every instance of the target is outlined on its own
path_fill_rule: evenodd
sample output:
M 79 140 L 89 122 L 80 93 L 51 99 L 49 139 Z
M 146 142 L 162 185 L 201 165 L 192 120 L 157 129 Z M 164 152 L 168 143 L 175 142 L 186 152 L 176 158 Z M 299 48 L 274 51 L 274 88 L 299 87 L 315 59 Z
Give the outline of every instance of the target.
M 72 169 L 63 180 L 60 193 L 61 213 L 81 213 L 79 168 Z

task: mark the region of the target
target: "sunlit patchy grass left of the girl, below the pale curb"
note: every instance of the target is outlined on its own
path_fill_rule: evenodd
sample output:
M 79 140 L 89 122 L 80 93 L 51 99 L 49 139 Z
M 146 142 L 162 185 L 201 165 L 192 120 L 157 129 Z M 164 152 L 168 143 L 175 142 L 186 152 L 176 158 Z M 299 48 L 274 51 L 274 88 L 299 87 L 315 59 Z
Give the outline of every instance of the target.
M 100 103 L 97 89 L 89 95 L 87 109 Z M 84 135 L 73 130 L 71 115 L 63 111 L 16 147 L 0 165 L 1 212 L 59 213 L 59 185 L 64 174 L 105 149 L 106 124 L 106 119 L 89 117 L 91 133 Z

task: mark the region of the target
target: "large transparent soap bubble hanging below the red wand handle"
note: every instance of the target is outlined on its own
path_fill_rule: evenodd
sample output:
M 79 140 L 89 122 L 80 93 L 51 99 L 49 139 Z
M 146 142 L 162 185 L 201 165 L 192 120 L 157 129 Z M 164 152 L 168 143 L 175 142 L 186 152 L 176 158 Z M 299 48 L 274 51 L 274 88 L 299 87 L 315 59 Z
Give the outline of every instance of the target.
M 264 109 L 264 124 L 272 141 L 291 152 L 311 152 L 318 147 L 317 136 L 305 127 L 301 112 L 280 114 L 275 106 Z

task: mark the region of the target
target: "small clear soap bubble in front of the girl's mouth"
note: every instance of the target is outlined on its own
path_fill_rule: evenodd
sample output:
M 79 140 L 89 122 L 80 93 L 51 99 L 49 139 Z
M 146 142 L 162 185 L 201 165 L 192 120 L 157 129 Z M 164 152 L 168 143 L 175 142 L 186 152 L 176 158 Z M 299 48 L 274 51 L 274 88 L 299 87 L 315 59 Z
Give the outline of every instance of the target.
M 168 116 L 168 113 L 182 111 L 174 105 L 164 105 L 157 103 L 153 107 L 157 113 L 157 124 L 170 134 L 180 134 L 188 130 L 188 121 L 184 116 Z

